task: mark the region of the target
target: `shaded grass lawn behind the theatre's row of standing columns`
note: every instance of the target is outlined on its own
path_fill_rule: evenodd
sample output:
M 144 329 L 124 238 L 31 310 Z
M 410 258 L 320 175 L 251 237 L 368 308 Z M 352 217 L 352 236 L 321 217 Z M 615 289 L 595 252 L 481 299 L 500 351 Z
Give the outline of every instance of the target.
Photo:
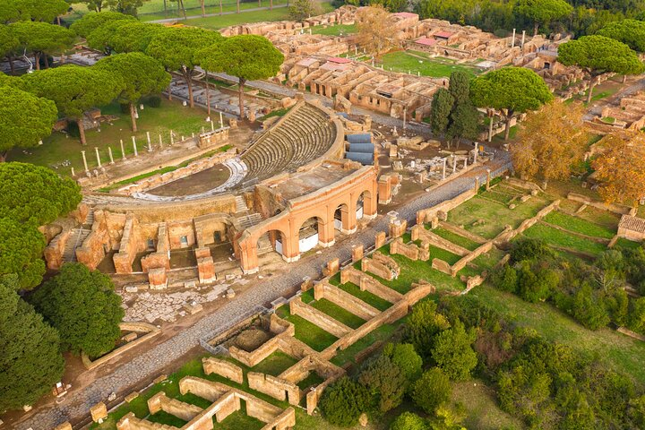
M 119 118 L 109 125 L 103 123 L 98 130 L 86 132 L 87 146 L 82 146 L 78 138 L 67 137 L 64 133 L 53 133 L 43 141 L 43 144 L 29 150 L 14 149 L 9 153 L 10 161 L 22 161 L 54 168 L 56 173 L 71 176 L 71 167 L 76 170 L 76 175 L 83 174 L 81 151 L 85 150 L 89 168 L 98 166 L 94 147 L 99 148 L 101 163 L 107 164 L 109 156 L 107 147 L 112 148 L 114 159 L 121 159 L 119 140 L 124 141 L 126 157 L 134 153 L 132 145 L 133 132 L 130 125 L 130 115 L 122 114 L 118 105 L 113 103 L 101 108 L 103 115 L 115 115 Z M 159 148 L 159 133 L 164 144 L 170 143 L 170 130 L 175 133 L 178 141 L 182 135 L 189 137 L 191 133 L 200 133 L 202 126 L 210 127 L 206 123 L 206 112 L 200 108 L 183 107 L 179 101 L 162 99 L 161 106 L 145 107 L 139 113 L 139 132 L 135 133 L 137 148 L 141 154 L 146 153 L 146 132 L 150 132 L 150 141 Z M 218 125 L 216 125 L 218 126 Z M 25 153 L 28 152 L 28 153 Z M 69 160 L 71 166 L 64 167 L 61 163 Z

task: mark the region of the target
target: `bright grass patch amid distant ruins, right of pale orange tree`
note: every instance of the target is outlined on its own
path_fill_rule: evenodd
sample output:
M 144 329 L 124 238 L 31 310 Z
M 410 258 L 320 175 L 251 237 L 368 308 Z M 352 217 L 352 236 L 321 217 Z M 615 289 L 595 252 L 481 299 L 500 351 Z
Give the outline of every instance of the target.
M 456 64 L 448 58 L 434 57 L 418 51 L 396 51 L 381 57 L 383 68 L 393 72 L 420 73 L 421 76 L 433 78 L 448 77 L 452 72 L 464 72 L 470 77 L 481 73 L 477 67 Z

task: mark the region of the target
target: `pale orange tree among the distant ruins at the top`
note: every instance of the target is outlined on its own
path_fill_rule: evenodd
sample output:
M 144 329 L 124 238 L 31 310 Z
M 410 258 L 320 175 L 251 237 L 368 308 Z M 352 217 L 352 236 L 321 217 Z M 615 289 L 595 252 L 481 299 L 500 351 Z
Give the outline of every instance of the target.
M 357 12 L 357 42 L 374 56 L 398 45 L 394 37 L 397 30 L 392 25 L 390 13 L 382 4 L 361 7 Z

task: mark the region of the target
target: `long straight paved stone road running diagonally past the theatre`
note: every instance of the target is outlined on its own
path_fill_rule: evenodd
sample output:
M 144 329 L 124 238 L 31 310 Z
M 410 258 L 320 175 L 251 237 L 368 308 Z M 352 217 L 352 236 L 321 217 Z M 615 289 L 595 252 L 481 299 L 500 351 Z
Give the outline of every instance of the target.
M 504 152 L 495 155 L 491 163 L 492 175 L 498 175 L 510 167 L 508 156 Z M 488 167 L 488 166 L 486 166 Z M 472 187 L 475 176 L 480 184 L 486 180 L 486 167 L 478 167 L 469 172 L 467 176 L 457 177 L 454 180 L 423 194 L 416 200 L 409 202 L 399 209 L 400 218 L 407 219 L 409 226 L 416 222 L 417 211 L 434 206 L 440 202 L 451 199 Z M 183 357 L 192 348 L 199 344 L 202 337 L 212 333 L 219 327 L 237 321 L 241 314 L 258 305 L 266 305 L 279 297 L 290 295 L 300 285 L 305 276 L 317 279 L 322 274 L 323 265 L 331 258 L 339 257 L 340 261 L 351 258 L 352 245 L 363 244 L 366 247 L 374 245 L 374 235 L 379 231 L 387 231 L 388 217 L 381 217 L 374 221 L 369 228 L 362 230 L 351 240 L 339 246 L 334 246 L 303 262 L 293 264 L 288 272 L 268 278 L 256 288 L 251 288 L 239 295 L 235 300 L 221 307 L 218 311 L 205 315 L 201 321 L 195 323 L 185 331 L 179 332 L 175 337 L 142 353 L 130 363 L 119 366 L 112 374 L 103 376 L 82 391 L 68 395 L 61 405 L 51 409 L 42 410 L 33 417 L 16 426 L 18 430 L 49 430 L 65 420 L 78 420 L 88 415 L 90 407 L 99 401 L 104 401 L 111 392 L 123 393 L 126 389 L 145 380 L 150 380 L 159 375 L 160 369 L 168 366 L 178 358 Z

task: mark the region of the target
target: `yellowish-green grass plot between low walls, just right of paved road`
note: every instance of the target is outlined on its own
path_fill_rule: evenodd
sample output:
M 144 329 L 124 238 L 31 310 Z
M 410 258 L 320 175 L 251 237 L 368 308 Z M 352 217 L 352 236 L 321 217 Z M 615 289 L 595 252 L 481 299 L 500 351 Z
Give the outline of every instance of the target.
M 486 196 L 489 193 L 481 195 Z M 519 202 L 515 209 L 508 209 L 502 204 L 489 202 L 477 195 L 450 211 L 448 221 L 463 226 L 476 235 L 492 239 L 502 232 L 504 224 L 518 228 L 524 219 L 535 216 L 548 203 L 544 198 L 536 196 L 527 202 Z M 483 219 L 484 223 L 474 226 L 473 223 L 479 219 Z

